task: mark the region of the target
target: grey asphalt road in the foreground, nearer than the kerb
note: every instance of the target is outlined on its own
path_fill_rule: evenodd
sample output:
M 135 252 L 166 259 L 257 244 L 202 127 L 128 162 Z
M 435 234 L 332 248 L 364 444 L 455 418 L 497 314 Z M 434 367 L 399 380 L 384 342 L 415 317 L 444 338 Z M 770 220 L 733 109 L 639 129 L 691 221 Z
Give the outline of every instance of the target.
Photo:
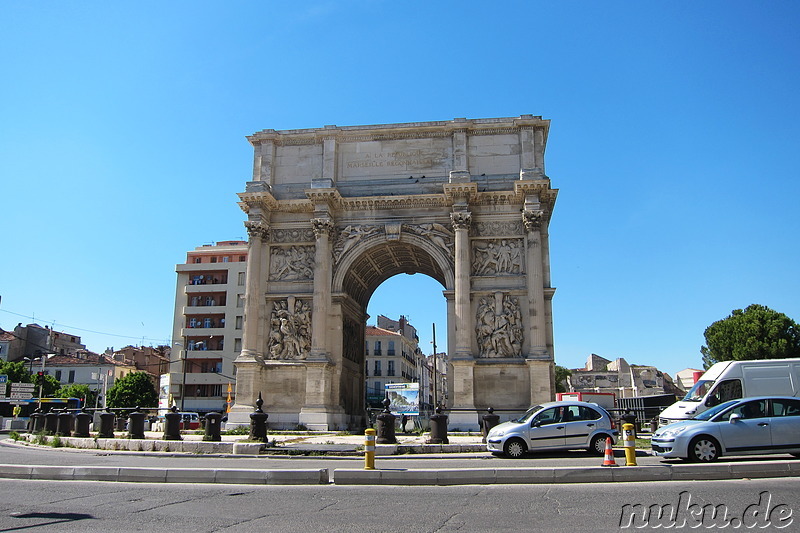
M 800 524 L 800 479 L 457 487 L 270 487 L 3 480 L 0 531 L 346 532 L 655 529 L 625 505 L 672 504 L 688 530 L 724 520 L 753 530 Z M 684 505 L 681 505 L 683 502 Z M 723 515 L 702 515 L 712 505 Z M 694 507 L 692 507 L 694 506 Z M 721 509 L 719 506 L 724 506 Z M 643 508 L 644 508 L 643 507 Z M 640 508 L 643 509 L 643 508 Z M 688 511 L 701 509 L 699 519 Z M 627 510 L 626 510 L 627 509 Z M 759 515 L 759 509 L 765 512 Z M 788 516 L 787 516 L 788 511 Z M 742 522 L 742 521 L 745 522 Z M 770 522 L 771 521 L 771 522 Z M 770 523 L 772 526 L 770 527 Z M 761 525 L 767 525 L 761 528 Z M 636 527 L 639 526 L 639 527 Z M 662 525 L 663 526 L 663 525 Z M 726 529 L 731 529 L 727 527 Z

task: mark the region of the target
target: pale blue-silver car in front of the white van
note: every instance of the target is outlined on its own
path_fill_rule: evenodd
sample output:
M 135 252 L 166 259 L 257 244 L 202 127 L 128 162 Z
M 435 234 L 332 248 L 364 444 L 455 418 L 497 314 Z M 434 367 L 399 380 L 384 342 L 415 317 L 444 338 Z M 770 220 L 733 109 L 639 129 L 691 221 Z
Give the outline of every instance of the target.
M 691 420 L 658 429 L 651 444 L 656 455 L 696 462 L 716 461 L 723 455 L 790 453 L 800 457 L 800 399 L 729 400 Z

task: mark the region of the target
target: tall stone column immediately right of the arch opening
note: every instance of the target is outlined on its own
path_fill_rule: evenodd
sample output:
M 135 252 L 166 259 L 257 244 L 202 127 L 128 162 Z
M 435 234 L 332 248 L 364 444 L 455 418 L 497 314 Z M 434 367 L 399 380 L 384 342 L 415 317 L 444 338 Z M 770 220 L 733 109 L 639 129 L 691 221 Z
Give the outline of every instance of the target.
M 456 290 L 456 359 L 472 359 L 472 314 L 470 313 L 470 261 L 469 225 L 472 215 L 469 211 L 450 214 L 455 230 L 455 290 Z

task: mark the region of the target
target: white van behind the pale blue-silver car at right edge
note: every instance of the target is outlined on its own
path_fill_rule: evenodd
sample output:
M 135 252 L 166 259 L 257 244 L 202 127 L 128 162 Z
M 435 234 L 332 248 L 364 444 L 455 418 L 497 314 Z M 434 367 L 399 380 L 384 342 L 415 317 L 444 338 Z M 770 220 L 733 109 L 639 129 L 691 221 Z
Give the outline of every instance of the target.
M 775 395 L 800 396 L 800 359 L 722 361 L 706 370 L 681 401 L 664 409 L 658 423 L 686 420 L 728 400 Z

